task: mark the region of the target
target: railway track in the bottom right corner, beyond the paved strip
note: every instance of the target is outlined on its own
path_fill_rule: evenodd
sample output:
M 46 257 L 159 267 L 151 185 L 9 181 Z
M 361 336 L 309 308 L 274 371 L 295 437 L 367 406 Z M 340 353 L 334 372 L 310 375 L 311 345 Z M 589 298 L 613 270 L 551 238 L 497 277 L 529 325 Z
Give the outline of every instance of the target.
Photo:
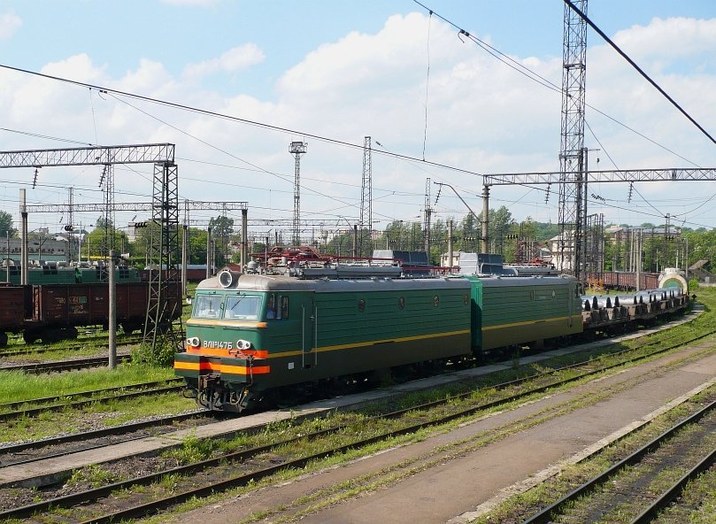
M 623 520 L 623 513 L 628 514 L 629 511 L 635 513 L 635 508 L 642 511 L 631 520 L 633 524 L 651 522 L 659 511 L 681 495 L 689 480 L 696 478 L 698 474 L 713 465 L 716 459 L 714 447 L 710 447 L 688 466 L 679 464 L 684 462 L 679 459 L 683 455 L 688 455 L 688 450 L 698 449 L 699 443 L 716 429 L 716 416 L 713 411 L 715 407 L 716 401 L 681 420 L 626 459 L 620 460 L 570 491 L 565 497 L 543 508 L 542 511 L 525 520 L 524 524 L 545 524 L 555 521 L 560 516 L 564 516 L 567 520 L 571 518 L 587 522 L 609 520 L 610 512 L 617 511 L 622 513 L 620 521 L 626 521 Z M 683 467 L 687 473 L 681 475 L 657 497 L 653 497 L 649 492 L 651 482 L 658 474 L 674 466 Z M 629 474 L 625 474 L 627 469 L 630 470 Z M 604 487 L 607 482 L 610 482 L 612 487 Z M 644 505 L 644 500 L 650 502 Z

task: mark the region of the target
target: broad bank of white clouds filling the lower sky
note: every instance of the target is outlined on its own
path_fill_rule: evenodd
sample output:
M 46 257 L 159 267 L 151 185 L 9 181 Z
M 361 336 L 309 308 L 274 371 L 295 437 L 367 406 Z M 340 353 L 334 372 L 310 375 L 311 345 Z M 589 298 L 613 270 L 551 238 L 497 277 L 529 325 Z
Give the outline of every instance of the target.
M 208 74 L 235 73 L 262 63 L 264 53 L 253 43 L 227 50 L 218 58 L 186 65 L 180 76 L 174 76 L 160 62 L 142 59 L 135 69 L 112 78 L 106 66 L 93 64 L 88 55 L 48 64 L 42 72 L 355 144 L 370 135 L 376 219 L 388 216 L 413 220 L 424 204 L 427 177 L 454 185 L 473 209 L 479 209 L 476 195 L 482 183 L 481 177 L 381 156 L 382 148 L 376 142 L 386 150 L 422 158 L 425 140 L 427 160 L 479 173 L 558 170 L 559 94 L 528 81 L 472 42 L 460 42 L 451 27 L 435 19 L 430 27 L 428 80 L 427 23 L 427 17 L 420 14 L 394 16 L 374 35 L 353 32 L 324 43 L 293 65 L 275 90 L 266 89 L 253 96 L 243 91 L 226 96 L 227 89 L 212 89 L 208 81 L 196 87 L 197 79 Z M 647 27 L 621 31 L 616 38 L 637 63 L 651 67 L 659 60 L 664 64 L 654 70 L 655 80 L 704 127 L 716 132 L 712 125 L 716 122 L 716 73 L 711 56 L 716 19 L 655 19 Z M 695 127 L 611 49 L 596 40 L 589 44 L 589 104 L 694 162 L 713 164 L 712 144 Z M 561 58 L 513 58 L 561 85 Z M 90 103 L 86 89 L 19 73 L 0 72 L 0 81 L 6 88 L 0 90 L 0 112 L 9 116 L 5 127 L 88 142 L 95 141 L 96 127 L 100 143 L 176 143 L 182 196 L 246 200 L 252 218 L 291 216 L 294 161 L 289 142 L 306 139 L 304 136 L 121 97 L 121 101 L 112 96 L 102 100 L 96 93 Z M 586 143 L 589 148 L 602 149 L 590 153 L 592 167 L 611 168 L 607 152 L 620 168 L 687 165 L 589 108 L 587 119 L 599 143 L 589 130 Z M 10 138 L 18 140 L 17 144 L 8 141 L 9 145 L 18 145 L 12 149 L 36 147 L 23 147 L 19 139 Z M 302 160 L 301 176 L 304 216 L 325 216 L 327 220 L 335 220 L 339 214 L 357 216 L 363 151 L 310 137 L 307 141 L 309 149 Z M 602 160 L 598 166 L 597 156 Z M 259 171 L 247 163 L 258 166 Z M 150 190 L 147 181 L 138 181 L 131 172 L 118 178 L 116 184 L 120 190 L 137 190 L 139 186 L 144 192 Z M 693 194 L 693 188 L 688 184 L 673 189 L 638 185 L 644 196 L 652 198 L 663 197 L 667 190 L 670 198 L 678 198 Z M 590 192 L 611 196 L 625 206 L 627 190 L 618 184 L 590 188 Z M 711 192 L 702 191 L 705 196 Z M 557 219 L 556 187 L 551 188 L 547 204 L 542 191 L 523 187 L 496 187 L 491 195 L 493 207 L 507 205 L 517 220 L 527 214 L 534 220 Z M 63 198 L 48 197 L 46 201 Z M 440 213 L 436 216 L 443 219 L 466 212 L 449 194 L 441 196 L 437 207 Z M 666 206 L 663 209 L 676 212 Z M 591 211 L 603 211 L 607 220 L 656 221 L 610 208 Z

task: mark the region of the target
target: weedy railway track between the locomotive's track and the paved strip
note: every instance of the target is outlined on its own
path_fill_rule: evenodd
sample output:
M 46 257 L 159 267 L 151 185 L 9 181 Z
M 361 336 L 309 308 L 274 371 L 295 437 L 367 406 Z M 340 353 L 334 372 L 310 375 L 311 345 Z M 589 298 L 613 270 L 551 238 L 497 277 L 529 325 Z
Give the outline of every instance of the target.
M 697 340 L 703 337 L 698 336 L 694 338 Z M 485 412 L 501 405 L 511 404 L 526 397 L 534 396 L 535 394 L 543 394 L 547 390 L 558 388 L 574 381 L 581 381 L 585 377 L 603 374 L 605 371 L 617 366 L 623 366 L 627 362 L 651 358 L 654 355 L 669 351 L 682 343 L 687 343 L 687 341 L 680 340 L 678 343 L 674 343 L 672 347 L 659 348 L 647 354 L 622 359 L 620 362 L 609 366 L 599 366 L 596 368 L 593 362 L 566 366 L 561 369 L 561 371 L 568 372 L 569 376 L 566 378 L 543 381 L 535 385 L 530 384 L 530 387 L 521 390 L 515 389 L 519 389 L 520 386 L 525 385 L 527 381 L 534 381 L 535 377 L 546 379 L 550 374 L 557 373 L 557 370 L 492 385 L 492 388 L 506 392 L 507 394 L 504 395 L 503 393 L 502 397 L 489 402 L 474 401 L 471 399 L 473 391 L 469 391 L 465 394 L 441 398 L 421 405 L 411 405 L 404 409 L 381 412 L 367 420 L 344 423 L 330 428 L 321 428 L 308 433 L 304 432 L 301 435 L 289 436 L 248 450 L 222 454 L 219 457 L 186 466 L 164 469 L 124 482 L 115 482 L 101 488 L 88 489 L 81 493 L 56 497 L 33 505 L 7 510 L 0 512 L 0 519 L 21 518 L 32 515 L 35 512 L 46 512 L 50 507 L 69 507 L 75 505 L 82 505 L 82 509 L 80 510 L 83 515 L 82 518 L 89 516 L 92 522 L 119 521 L 122 519 L 141 517 L 152 512 L 157 512 L 168 506 L 179 504 L 192 497 L 204 497 L 216 491 L 244 486 L 250 482 L 258 482 L 260 479 L 275 474 L 281 469 L 304 467 L 318 459 L 364 448 L 373 443 L 400 435 L 414 434 L 421 429 L 436 427 L 451 420 L 474 417 L 480 412 Z M 622 352 L 627 351 L 629 350 Z M 458 401 L 461 401 L 461 403 Z M 446 406 L 450 406 L 450 409 L 447 409 Z M 433 416 L 431 410 L 436 407 L 442 407 L 447 413 Z M 435 412 L 437 411 L 440 410 L 435 410 Z M 396 424 L 397 427 L 378 434 L 361 437 L 367 421 L 380 424 L 388 420 L 398 420 L 399 422 Z M 258 428 L 258 430 L 260 430 L 260 428 Z M 340 435 L 340 445 L 327 447 L 325 444 L 323 446 L 318 444 L 322 442 L 321 439 L 327 437 L 327 435 Z M 285 455 L 285 451 L 282 450 L 285 450 L 286 447 L 292 443 L 299 442 L 312 443 L 311 448 L 318 448 L 319 451 L 304 454 L 299 453 L 300 456 L 290 457 L 288 459 L 283 457 L 273 461 L 270 459 L 272 456 L 281 457 Z M 267 457 L 269 459 L 266 459 Z M 236 471 L 241 471 L 241 473 L 237 474 Z M 172 493 L 168 493 L 164 497 L 146 500 L 142 497 L 143 491 L 140 489 L 138 493 L 132 493 L 129 497 L 123 497 L 120 507 L 118 507 L 116 500 L 110 497 L 115 490 L 128 490 L 133 486 L 155 484 L 162 478 L 178 479 L 173 486 Z

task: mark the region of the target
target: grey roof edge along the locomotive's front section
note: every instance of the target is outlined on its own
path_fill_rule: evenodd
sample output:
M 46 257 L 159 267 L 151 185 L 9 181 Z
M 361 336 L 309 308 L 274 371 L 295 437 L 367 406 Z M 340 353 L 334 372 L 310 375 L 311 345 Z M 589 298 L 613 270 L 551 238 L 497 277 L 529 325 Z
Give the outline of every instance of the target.
M 201 281 L 196 289 L 226 289 L 242 291 L 316 291 L 337 292 L 361 289 L 469 289 L 470 282 L 462 278 L 422 279 L 297 279 L 296 277 L 270 274 L 242 274 L 230 286 L 224 287 L 219 277 Z

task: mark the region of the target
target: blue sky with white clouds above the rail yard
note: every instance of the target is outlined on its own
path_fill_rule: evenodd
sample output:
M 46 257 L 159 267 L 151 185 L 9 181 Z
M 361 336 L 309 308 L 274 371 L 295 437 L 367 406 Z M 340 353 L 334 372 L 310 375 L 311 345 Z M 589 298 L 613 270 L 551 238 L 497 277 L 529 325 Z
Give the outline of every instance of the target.
M 716 136 L 716 3 L 591 0 L 588 14 Z M 563 20 L 562 0 L 0 0 L 0 150 L 174 143 L 180 200 L 246 202 L 250 235 L 263 236 L 279 227 L 267 220 L 293 217 L 289 143 L 304 141 L 311 236 L 358 222 L 369 136 L 373 228 L 421 221 L 427 189 L 433 220 L 462 220 L 481 211 L 481 175 L 558 171 L 562 102 L 458 27 L 561 86 Z M 716 167 L 708 136 L 591 29 L 587 43 L 590 169 Z M 3 169 L 0 210 L 19 224 L 20 188 L 27 204 L 66 204 L 70 187 L 75 203 L 101 203 L 101 173 L 43 168 L 33 189 L 35 170 Z M 150 202 L 152 173 L 115 166 L 115 202 Z M 716 227 L 714 182 L 600 183 L 589 194 L 607 224 L 668 213 L 677 226 Z M 558 188 L 494 186 L 490 207 L 502 205 L 516 221 L 557 223 Z M 135 215 L 116 222 L 150 218 Z M 29 222 L 59 230 L 67 217 Z

